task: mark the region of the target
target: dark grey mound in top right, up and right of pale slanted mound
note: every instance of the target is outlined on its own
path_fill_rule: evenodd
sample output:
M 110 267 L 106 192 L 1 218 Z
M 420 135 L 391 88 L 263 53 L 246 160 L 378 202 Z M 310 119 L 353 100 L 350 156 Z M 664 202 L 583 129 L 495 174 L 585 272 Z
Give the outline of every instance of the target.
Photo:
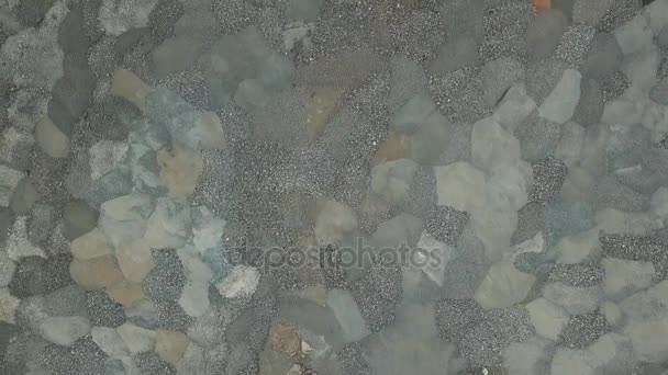
M 602 81 L 622 64 L 622 52 L 612 34 L 597 34 L 591 41 L 580 71 L 586 78 Z

